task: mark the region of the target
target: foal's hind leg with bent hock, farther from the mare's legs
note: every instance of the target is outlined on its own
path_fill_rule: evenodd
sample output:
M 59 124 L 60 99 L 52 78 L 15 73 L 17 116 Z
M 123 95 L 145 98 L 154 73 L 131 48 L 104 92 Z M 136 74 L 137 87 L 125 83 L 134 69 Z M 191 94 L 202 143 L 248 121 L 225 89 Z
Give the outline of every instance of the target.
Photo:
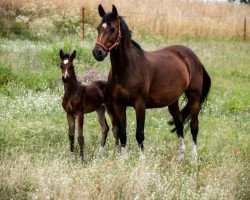
M 105 118 L 105 107 L 101 106 L 96 110 L 98 115 L 98 121 L 102 129 L 102 141 L 101 141 L 101 149 L 104 148 L 109 132 L 109 126 Z

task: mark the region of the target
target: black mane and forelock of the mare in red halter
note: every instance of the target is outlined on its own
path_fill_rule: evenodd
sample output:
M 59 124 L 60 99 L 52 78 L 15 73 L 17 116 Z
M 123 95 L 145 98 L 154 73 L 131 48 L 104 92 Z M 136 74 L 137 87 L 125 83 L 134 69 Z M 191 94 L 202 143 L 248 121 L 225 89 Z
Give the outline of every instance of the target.
M 115 16 L 112 12 L 107 13 L 106 15 L 104 15 L 103 17 L 103 22 L 106 22 L 108 25 L 111 24 L 112 20 L 115 20 Z M 143 49 L 141 48 L 141 46 L 135 42 L 134 40 L 132 40 L 132 31 L 129 30 L 128 25 L 126 24 L 125 20 L 123 17 L 119 16 L 119 20 L 120 20 L 120 28 L 121 28 L 121 36 L 123 39 L 131 41 L 131 43 L 133 44 L 133 46 L 137 49 L 137 51 L 143 55 Z

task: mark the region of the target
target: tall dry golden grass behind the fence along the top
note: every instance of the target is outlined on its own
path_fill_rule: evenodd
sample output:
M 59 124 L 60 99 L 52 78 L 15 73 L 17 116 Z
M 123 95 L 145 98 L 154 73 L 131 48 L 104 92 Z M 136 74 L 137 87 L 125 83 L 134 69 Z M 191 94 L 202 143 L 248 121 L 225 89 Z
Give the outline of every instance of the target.
M 97 0 L 4 0 L 1 6 L 18 9 L 26 3 L 44 5 L 52 3 L 59 9 L 85 7 L 88 18 L 97 24 L 97 6 L 102 3 L 106 11 L 111 10 L 109 1 Z M 250 7 L 233 3 L 203 3 L 195 1 L 121 1 L 113 4 L 120 15 L 126 17 L 129 27 L 134 31 L 150 32 L 168 37 L 212 37 L 243 38 L 244 18 L 250 29 Z M 78 13 L 80 14 L 80 12 Z M 249 28 L 248 28 L 249 27 Z M 250 38 L 250 31 L 247 30 Z

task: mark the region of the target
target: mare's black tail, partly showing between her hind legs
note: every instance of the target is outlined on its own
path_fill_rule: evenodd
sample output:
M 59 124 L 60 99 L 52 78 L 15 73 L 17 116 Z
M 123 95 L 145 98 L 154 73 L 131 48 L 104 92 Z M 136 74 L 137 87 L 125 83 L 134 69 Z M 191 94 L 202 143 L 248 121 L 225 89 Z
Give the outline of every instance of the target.
M 211 87 L 211 79 L 203 65 L 202 67 L 203 67 L 203 83 L 202 83 L 202 92 L 200 96 L 200 106 L 202 106 L 202 104 L 206 101 L 208 93 L 210 91 L 210 87 Z M 181 110 L 181 116 L 182 116 L 182 120 L 184 124 L 189 123 L 191 116 L 190 116 L 188 103 Z M 174 119 L 171 119 L 168 123 L 170 125 L 174 125 Z M 175 132 L 175 131 L 176 131 L 176 128 L 171 130 L 171 132 Z

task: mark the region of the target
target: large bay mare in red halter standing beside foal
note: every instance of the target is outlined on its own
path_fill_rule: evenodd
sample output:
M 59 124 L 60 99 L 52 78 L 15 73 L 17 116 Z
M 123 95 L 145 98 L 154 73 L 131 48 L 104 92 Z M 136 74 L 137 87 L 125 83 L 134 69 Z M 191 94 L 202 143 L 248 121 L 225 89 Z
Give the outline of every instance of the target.
M 139 159 L 144 159 L 145 109 L 168 106 L 179 140 L 179 159 L 184 158 L 184 122 L 190 121 L 193 139 L 192 155 L 197 160 L 198 115 L 211 86 L 211 79 L 201 61 L 189 48 L 172 45 L 156 51 L 144 51 L 132 40 L 124 18 L 113 5 L 106 13 L 99 5 L 102 18 L 98 25 L 98 38 L 92 51 L 97 61 L 110 53 L 111 69 L 108 90 L 117 118 L 123 158 L 126 154 L 126 107 L 132 106 L 136 114 L 136 139 Z M 179 98 L 185 94 L 187 104 L 180 111 Z

